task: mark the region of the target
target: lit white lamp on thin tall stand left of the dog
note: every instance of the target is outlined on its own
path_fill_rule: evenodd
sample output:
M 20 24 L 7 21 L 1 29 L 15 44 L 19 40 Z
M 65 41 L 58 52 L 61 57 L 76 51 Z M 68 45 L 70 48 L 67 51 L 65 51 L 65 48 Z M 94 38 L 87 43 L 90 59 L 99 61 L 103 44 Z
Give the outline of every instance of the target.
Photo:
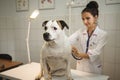
M 28 19 L 28 31 L 27 31 L 27 37 L 26 37 L 26 45 L 27 45 L 27 56 L 28 56 L 29 63 L 31 63 L 30 48 L 29 48 L 29 35 L 30 35 L 31 20 L 35 19 L 38 15 L 39 15 L 39 10 L 34 10 Z

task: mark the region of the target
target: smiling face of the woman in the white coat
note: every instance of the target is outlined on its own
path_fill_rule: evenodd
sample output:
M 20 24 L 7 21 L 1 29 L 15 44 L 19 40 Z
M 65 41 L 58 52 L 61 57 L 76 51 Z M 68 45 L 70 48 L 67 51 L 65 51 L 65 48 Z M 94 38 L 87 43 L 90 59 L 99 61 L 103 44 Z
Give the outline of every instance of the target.
M 97 21 L 97 16 L 94 17 L 91 13 L 89 12 L 83 12 L 82 13 L 82 20 L 83 20 L 83 23 L 84 25 L 87 27 L 87 28 L 92 28 L 92 27 L 95 27 L 96 26 L 96 21 Z

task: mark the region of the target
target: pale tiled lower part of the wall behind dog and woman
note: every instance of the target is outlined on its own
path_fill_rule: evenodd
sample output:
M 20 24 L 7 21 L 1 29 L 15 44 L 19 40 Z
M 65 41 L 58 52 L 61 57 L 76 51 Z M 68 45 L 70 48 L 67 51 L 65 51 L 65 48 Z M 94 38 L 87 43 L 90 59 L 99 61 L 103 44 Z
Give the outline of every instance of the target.
M 41 24 L 44 20 L 63 19 L 68 23 L 68 16 L 42 16 L 31 22 L 30 52 L 32 61 L 39 62 L 40 48 L 43 44 Z M 99 26 L 108 32 L 108 43 L 102 53 L 103 74 L 111 80 L 120 80 L 120 14 L 100 14 Z M 14 60 L 27 63 L 26 17 L 0 17 L 0 52 L 9 53 Z M 71 34 L 83 27 L 80 15 L 72 15 Z M 74 62 L 74 61 L 73 61 Z M 75 68 L 75 63 L 73 63 Z

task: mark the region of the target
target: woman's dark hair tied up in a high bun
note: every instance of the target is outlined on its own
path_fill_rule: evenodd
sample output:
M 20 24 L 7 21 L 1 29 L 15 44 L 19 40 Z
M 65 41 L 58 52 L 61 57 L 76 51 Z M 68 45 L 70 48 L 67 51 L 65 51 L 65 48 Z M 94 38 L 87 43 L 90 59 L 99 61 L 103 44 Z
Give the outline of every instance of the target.
M 98 11 L 98 3 L 96 1 L 91 1 L 86 5 L 86 8 L 83 9 L 82 13 L 84 12 L 89 12 L 91 13 L 94 17 L 99 16 L 99 11 Z

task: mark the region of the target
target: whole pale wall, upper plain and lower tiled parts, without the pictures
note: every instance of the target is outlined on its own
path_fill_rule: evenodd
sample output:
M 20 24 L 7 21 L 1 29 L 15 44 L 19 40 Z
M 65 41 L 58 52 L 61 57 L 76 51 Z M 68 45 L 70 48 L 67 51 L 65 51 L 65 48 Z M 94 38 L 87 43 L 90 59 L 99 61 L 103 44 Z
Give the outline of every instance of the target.
M 103 73 L 111 80 L 120 80 L 120 4 L 106 5 L 99 3 L 99 25 L 108 32 L 108 44 L 104 48 L 102 61 Z M 68 23 L 69 0 L 55 0 L 55 9 L 40 10 L 39 17 L 31 22 L 30 51 L 32 61 L 39 62 L 40 49 L 43 44 L 41 24 L 48 19 L 63 19 Z M 71 34 L 83 27 L 81 11 L 84 7 L 72 8 Z M 16 12 L 15 0 L 0 0 L 0 53 L 9 53 L 14 60 L 27 63 L 26 34 L 28 16 L 38 9 L 38 0 L 29 0 L 29 11 Z M 75 67 L 75 64 L 74 66 Z

